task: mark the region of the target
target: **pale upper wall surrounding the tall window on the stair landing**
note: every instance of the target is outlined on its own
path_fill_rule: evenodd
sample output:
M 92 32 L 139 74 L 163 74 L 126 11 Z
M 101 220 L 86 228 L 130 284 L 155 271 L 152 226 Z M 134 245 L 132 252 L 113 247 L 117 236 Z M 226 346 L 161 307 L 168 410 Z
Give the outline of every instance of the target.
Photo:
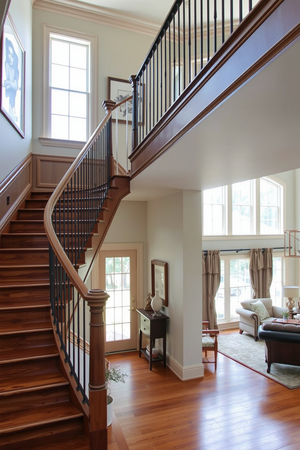
M 42 132 L 42 81 L 43 81 L 43 43 L 42 24 L 82 31 L 98 36 L 98 122 L 104 117 L 102 102 L 107 99 L 107 77 L 128 80 L 138 72 L 153 38 L 133 31 L 107 27 L 78 18 L 33 9 L 33 143 L 32 152 L 77 156 L 78 149 L 42 146 L 39 137 Z M 124 131 L 125 125 L 122 127 Z M 120 132 L 122 132 L 120 131 Z M 131 148 L 131 135 L 130 148 Z M 124 164 L 122 158 L 122 164 Z

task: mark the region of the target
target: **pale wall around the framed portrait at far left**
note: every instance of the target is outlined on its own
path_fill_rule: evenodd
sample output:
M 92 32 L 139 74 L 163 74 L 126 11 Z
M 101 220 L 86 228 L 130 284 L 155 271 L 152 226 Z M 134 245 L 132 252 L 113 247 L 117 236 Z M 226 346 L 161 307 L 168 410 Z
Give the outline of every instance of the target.
M 9 14 L 25 50 L 25 139 L 0 114 L 0 182 L 31 153 L 31 0 L 12 0 Z

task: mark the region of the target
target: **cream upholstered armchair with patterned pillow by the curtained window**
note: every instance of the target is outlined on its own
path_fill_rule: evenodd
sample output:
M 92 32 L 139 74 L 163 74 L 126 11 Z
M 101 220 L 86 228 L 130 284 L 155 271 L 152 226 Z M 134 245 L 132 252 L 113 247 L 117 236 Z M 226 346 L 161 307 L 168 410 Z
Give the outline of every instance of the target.
M 257 307 L 253 306 L 253 304 L 259 300 L 263 303 L 267 312 L 260 307 L 260 303 L 257 304 Z M 250 304 L 252 304 L 252 306 L 250 306 Z M 235 310 L 236 313 L 240 315 L 240 334 L 242 334 L 243 331 L 246 331 L 246 333 L 250 333 L 254 336 L 255 341 L 258 339 L 257 330 L 260 324 L 272 322 L 272 320 L 276 318 L 282 318 L 282 311 L 287 310 L 287 308 L 273 306 L 271 298 L 245 300 L 244 302 L 241 302 L 241 306 L 241 308 Z

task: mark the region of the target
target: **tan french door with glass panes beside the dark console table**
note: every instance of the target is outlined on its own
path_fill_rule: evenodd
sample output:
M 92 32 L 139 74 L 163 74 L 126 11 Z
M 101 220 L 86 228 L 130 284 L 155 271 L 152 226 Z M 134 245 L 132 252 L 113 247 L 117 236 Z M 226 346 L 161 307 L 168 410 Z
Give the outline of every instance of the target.
M 106 353 L 137 348 L 136 281 L 135 250 L 100 250 L 99 286 L 110 296 L 104 314 Z

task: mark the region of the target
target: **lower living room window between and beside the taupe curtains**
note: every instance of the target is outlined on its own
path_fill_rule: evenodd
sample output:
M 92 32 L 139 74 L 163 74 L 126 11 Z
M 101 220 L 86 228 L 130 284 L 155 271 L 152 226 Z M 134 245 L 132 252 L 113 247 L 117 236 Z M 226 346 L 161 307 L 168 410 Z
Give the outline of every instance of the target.
M 273 280 L 270 297 L 273 305 L 282 306 L 283 256 L 273 257 Z M 253 289 L 249 273 L 249 257 L 221 257 L 221 282 L 215 296 L 218 322 L 238 319 L 235 312 L 243 300 L 251 300 Z M 254 300 L 255 301 L 255 300 Z

